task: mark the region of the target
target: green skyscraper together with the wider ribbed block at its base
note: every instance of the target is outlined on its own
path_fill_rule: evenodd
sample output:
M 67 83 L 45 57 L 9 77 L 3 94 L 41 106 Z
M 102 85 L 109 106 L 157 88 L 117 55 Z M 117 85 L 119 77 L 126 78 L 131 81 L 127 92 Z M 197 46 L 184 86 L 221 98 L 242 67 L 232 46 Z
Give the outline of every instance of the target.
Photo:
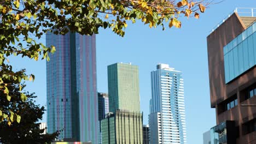
M 108 65 L 109 108 L 112 114 L 101 121 L 102 144 L 143 142 L 139 112 L 138 66 Z

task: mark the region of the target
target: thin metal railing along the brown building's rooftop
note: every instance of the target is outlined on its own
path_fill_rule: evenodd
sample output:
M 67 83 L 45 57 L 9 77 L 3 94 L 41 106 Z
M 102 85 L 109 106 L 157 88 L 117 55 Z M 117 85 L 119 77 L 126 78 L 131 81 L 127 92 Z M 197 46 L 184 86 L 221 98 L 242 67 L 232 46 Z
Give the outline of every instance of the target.
M 228 16 L 224 17 L 222 21 L 220 21 L 212 30 L 209 32 L 210 34 L 215 31 L 223 22 L 225 22 L 232 14 L 237 13 L 239 16 L 248 16 L 254 17 L 256 16 L 256 8 L 236 8 L 235 10 L 231 11 Z

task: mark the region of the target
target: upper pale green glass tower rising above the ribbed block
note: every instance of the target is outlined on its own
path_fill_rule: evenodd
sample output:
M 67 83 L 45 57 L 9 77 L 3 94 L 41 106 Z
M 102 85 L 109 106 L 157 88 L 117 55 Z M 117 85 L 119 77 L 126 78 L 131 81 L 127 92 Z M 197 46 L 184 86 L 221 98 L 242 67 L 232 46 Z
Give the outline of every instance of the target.
M 109 112 L 139 112 L 138 66 L 115 63 L 108 65 Z

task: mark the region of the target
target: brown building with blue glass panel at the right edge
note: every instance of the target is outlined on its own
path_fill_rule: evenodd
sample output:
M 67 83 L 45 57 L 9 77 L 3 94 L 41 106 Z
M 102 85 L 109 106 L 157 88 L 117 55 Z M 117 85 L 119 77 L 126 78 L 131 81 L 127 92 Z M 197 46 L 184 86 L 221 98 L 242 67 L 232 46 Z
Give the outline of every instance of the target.
M 211 107 L 217 116 L 214 144 L 256 143 L 255 21 L 236 9 L 207 37 Z

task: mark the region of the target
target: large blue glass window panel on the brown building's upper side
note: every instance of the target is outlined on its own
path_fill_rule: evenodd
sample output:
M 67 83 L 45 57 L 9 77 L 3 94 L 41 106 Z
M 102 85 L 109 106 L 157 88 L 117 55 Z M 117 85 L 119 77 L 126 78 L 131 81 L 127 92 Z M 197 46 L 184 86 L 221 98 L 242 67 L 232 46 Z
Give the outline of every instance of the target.
M 256 64 L 256 22 L 223 47 L 225 82 Z

